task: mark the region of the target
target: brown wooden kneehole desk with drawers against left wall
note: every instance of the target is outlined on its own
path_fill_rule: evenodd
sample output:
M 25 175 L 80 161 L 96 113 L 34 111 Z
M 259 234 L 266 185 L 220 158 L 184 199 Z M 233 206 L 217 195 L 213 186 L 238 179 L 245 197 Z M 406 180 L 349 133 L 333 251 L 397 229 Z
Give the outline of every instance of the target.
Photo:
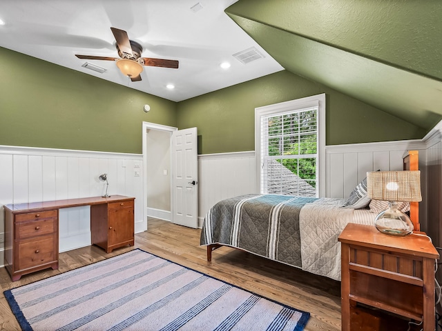
M 92 244 L 106 252 L 133 245 L 134 201 L 113 195 L 5 205 L 5 267 L 12 281 L 30 272 L 58 269 L 60 208 L 90 205 Z

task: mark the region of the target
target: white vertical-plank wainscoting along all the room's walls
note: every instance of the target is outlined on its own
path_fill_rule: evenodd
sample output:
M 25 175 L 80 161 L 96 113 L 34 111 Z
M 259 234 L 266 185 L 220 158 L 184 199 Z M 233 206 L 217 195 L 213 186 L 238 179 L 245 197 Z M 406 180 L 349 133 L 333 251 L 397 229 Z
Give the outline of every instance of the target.
M 419 150 L 421 161 L 421 224 L 425 230 L 427 205 L 432 228 L 441 233 L 442 139 L 431 134 L 423 140 L 359 143 L 326 147 L 326 197 L 348 197 L 353 188 L 372 170 L 401 170 L 407 150 Z M 99 174 L 108 173 L 109 193 L 135 197 L 135 232 L 146 230 L 142 212 L 142 176 L 134 177 L 135 164 L 142 167 L 142 155 L 41 148 L 0 146 L 0 206 L 7 203 L 44 201 L 104 194 Z M 428 166 L 427 166 L 428 165 Z M 427 175 L 428 172 L 428 175 Z M 429 185 L 428 181 L 434 185 Z M 198 225 L 212 205 L 222 199 L 258 192 L 255 152 L 203 154 L 198 156 Z M 431 178 L 430 178 L 431 177 Z M 434 179 L 434 180 L 433 180 Z M 426 197 L 428 196 L 428 199 Z M 430 201 L 433 197 L 434 203 Z M 86 245 L 86 228 L 90 222 L 88 207 L 63 210 L 60 219 L 60 250 Z M 166 215 L 163 217 L 167 219 Z M 66 221 L 65 221 L 66 220 Z M 3 210 L 0 212 L 0 234 L 4 232 Z M 90 236 L 90 232 L 88 232 Z M 433 234 L 436 235 L 436 234 Z M 82 237 L 81 237 L 82 236 Z M 439 241 L 438 241 L 439 242 Z M 3 243 L 0 243 L 0 265 L 3 265 Z

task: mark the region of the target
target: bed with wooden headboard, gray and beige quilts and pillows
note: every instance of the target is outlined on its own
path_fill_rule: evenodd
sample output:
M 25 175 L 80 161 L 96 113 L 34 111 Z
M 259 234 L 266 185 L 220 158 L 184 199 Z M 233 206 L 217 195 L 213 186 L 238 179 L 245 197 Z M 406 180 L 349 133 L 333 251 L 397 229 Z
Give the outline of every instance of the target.
M 417 170 L 418 156 L 409 151 L 404 170 Z M 207 246 L 207 261 L 213 250 L 227 245 L 340 280 L 340 232 L 347 223 L 374 225 L 383 208 L 378 205 L 383 201 L 361 194 L 363 185 L 364 181 L 359 183 L 348 199 L 276 194 L 224 199 L 204 217 L 200 244 Z M 414 230 L 419 230 L 419 205 L 406 203 L 401 208 L 410 210 Z

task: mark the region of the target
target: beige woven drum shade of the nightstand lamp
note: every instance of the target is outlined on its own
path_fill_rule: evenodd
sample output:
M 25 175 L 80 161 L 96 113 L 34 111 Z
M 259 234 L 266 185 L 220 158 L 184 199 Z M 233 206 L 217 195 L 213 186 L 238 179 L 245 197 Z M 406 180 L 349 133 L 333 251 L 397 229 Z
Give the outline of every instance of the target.
M 367 194 L 375 200 L 422 201 L 421 172 L 367 172 Z

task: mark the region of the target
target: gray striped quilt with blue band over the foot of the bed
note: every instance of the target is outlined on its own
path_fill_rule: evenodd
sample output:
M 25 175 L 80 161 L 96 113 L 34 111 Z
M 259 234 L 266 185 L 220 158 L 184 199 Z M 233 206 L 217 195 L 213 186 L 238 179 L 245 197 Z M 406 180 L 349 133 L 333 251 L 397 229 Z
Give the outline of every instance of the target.
M 206 214 L 201 245 L 222 243 L 301 267 L 299 213 L 316 200 L 274 194 L 222 200 Z

